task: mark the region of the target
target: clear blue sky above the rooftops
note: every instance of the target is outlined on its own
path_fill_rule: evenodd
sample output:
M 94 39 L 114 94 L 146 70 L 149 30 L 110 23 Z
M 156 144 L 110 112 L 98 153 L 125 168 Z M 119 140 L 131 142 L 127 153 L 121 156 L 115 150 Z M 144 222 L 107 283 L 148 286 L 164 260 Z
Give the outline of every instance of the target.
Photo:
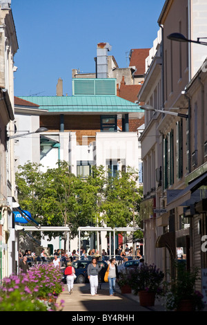
M 19 50 L 14 95 L 72 95 L 72 68 L 95 72 L 97 43 L 112 46 L 119 68 L 131 48 L 151 48 L 165 0 L 12 0 Z

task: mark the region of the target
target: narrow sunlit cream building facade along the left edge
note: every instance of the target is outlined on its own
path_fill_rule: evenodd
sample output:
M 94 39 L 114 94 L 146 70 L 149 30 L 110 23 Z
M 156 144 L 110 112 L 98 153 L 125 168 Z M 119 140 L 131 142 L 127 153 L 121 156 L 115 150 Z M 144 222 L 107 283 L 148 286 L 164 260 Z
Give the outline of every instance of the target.
M 17 270 L 12 202 L 14 187 L 13 143 L 8 140 L 14 125 L 14 55 L 17 35 L 10 1 L 0 3 L 0 281 Z

